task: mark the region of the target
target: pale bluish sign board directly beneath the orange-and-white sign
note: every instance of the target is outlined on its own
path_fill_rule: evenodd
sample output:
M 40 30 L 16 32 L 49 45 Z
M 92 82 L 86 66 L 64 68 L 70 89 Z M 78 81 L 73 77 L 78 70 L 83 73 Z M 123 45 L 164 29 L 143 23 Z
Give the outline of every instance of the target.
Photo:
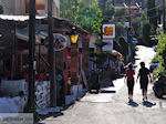
M 103 46 L 103 51 L 112 51 L 113 50 L 113 40 L 112 39 L 103 39 L 103 42 L 107 44 Z

